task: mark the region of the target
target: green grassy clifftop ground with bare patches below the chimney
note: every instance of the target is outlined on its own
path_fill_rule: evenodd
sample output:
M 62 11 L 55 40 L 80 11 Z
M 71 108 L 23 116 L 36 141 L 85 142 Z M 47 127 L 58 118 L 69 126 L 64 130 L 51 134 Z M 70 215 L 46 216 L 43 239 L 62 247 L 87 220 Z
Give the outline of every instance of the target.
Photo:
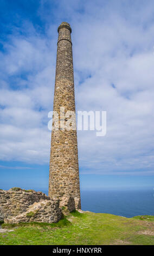
M 2 224 L 0 245 L 154 245 L 154 216 L 72 212 L 58 223 Z

